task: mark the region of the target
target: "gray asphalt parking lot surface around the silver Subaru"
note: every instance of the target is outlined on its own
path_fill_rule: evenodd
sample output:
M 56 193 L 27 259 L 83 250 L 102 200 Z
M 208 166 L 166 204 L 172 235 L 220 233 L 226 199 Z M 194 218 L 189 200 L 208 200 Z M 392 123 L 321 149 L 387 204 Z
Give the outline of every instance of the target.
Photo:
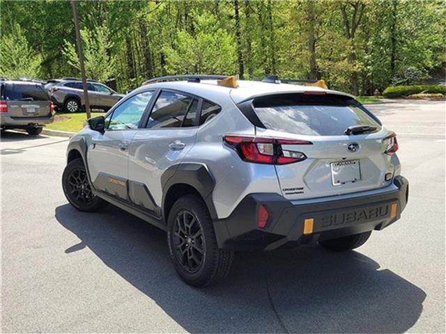
M 444 333 L 445 106 L 369 106 L 398 134 L 401 221 L 350 253 L 240 253 L 205 289 L 177 278 L 164 232 L 68 205 L 67 138 L 3 134 L 1 332 Z

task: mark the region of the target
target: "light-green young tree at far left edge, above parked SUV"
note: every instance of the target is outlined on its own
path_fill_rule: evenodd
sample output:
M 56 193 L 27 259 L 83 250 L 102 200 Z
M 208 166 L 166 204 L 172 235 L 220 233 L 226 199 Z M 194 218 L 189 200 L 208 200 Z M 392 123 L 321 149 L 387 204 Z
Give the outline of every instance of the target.
M 18 24 L 0 38 L 0 77 L 38 78 L 42 56 L 28 44 Z

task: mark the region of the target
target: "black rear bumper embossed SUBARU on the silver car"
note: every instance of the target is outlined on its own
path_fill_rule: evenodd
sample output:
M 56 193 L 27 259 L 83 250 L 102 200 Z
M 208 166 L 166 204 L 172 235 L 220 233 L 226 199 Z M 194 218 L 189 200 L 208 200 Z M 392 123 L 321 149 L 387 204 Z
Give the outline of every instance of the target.
M 228 218 L 214 221 L 220 248 L 271 250 L 315 244 L 319 240 L 382 230 L 397 221 L 408 201 L 408 180 L 397 176 L 385 189 L 351 194 L 348 198 L 290 201 L 277 193 L 245 197 Z M 259 228 L 259 205 L 268 209 L 268 223 Z M 395 207 L 396 205 L 396 207 Z M 304 234 L 305 219 L 313 219 L 313 232 Z

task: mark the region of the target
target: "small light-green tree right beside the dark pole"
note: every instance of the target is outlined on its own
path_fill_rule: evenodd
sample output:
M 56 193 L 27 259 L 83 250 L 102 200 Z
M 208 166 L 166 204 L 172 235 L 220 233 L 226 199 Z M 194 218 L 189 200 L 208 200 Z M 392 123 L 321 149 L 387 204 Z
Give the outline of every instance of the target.
M 109 40 L 106 26 L 97 26 L 93 30 L 81 29 L 84 49 L 85 72 L 87 77 L 98 81 L 108 81 L 116 74 L 116 58 L 110 53 L 113 43 Z M 77 46 L 65 40 L 62 54 L 68 63 L 80 69 Z

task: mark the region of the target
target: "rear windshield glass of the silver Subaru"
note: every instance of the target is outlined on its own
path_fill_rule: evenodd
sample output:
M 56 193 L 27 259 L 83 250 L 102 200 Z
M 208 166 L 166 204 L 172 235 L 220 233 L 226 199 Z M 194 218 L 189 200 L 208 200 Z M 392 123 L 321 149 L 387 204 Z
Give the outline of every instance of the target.
M 352 125 L 380 128 L 359 102 L 339 95 L 280 94 L 257 97 L 256 115 L 267 129 L 309 136 L 339 136 Z

